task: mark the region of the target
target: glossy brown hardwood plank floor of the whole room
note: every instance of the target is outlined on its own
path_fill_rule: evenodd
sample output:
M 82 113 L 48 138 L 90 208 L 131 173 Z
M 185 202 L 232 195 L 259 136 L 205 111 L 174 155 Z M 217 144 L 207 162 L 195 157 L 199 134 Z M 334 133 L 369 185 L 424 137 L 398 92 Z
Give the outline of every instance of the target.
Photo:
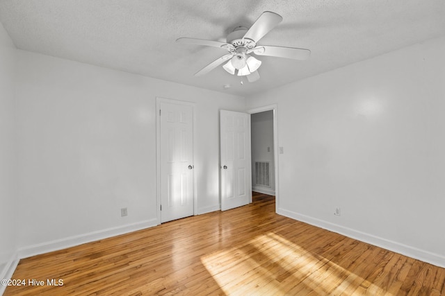
M 5 295 L 445 295 L 444 268 L 274 212 L 255 193 L 245 207 L 22 259 L 13 279 L 26 286 Z

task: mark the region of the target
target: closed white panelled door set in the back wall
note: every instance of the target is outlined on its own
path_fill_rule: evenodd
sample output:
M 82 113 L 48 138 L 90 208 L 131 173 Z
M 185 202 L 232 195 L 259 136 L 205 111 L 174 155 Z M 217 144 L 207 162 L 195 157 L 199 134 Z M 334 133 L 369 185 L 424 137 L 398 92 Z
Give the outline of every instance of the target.
M 193 216 L 193 107 L 160 103 L 161 223 Z

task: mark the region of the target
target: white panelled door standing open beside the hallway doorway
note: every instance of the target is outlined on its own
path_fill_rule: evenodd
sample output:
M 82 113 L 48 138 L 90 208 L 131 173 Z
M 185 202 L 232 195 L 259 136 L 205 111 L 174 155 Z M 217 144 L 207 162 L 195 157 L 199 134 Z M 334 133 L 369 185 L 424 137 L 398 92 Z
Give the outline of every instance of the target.
M 252 197 L 250 114 L 220 110 L 221 210 L 248 204 Z

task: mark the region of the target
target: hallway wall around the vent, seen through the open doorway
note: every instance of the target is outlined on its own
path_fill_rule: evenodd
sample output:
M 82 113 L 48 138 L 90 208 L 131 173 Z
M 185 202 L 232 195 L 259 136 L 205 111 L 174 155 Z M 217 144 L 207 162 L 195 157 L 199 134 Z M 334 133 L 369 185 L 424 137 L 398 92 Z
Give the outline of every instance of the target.
M 275 162 L 273 150 L 273 110 L 250 115 L 252 126 L 252 190 L 275 195 Z M 269 150 L 268 150 L 269 148 Z M 270 186 L 255 182 L 255 162 L 269 162 Z

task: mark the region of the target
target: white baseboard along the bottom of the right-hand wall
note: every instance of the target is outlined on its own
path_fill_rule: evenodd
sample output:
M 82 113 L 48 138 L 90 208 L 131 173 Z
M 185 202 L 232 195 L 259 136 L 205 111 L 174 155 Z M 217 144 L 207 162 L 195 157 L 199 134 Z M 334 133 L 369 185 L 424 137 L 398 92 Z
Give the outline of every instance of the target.
M 380 238 L 380 237 L 374 236 L 372 234 L 366 234 L 364 232 L 359 232 L 355 229 L 343 227 L 341 225 L 330 223 L 325 220 L 313 218 L 313 217 L 306 216 L 303 214 L 298 214 L 296 212 L 288 211 L 286 209 L 277 209 L 277 214 L 280 214 L 282 216 L 286 216 L 286 217 L 289 217 L 294 220 L 298 220 L 298 221 L 301 221 L 301 222 L 304 222 L 304 223 L 307 223 L 310 225 L 314 225 L 316 227 L 321 227 L 323 229 L 330 230 L 331 232 L 337 232 L 338 234 L 342 234 L 343 236 L 348 236 L 350 238 L 357 239 L 357 241 L 363 241 L 364 243 L 376 245 L 376 246 L 382 247 L 386 250 L 390 250 L 392 252 L 403 254 L 405 256 L 409 256 L 414 259 L 418 259 L 420 261 L 445 268 L 445 257 L 441 256 L 439 254 L 428 252 L 426 250 L 421 250 L 416 247 L 411 247 L 409 245 L 405 245 L 403 243 L 398 243 L 396 241 L 390 241 L 390 240 L 387 240 L 386 238 Z

